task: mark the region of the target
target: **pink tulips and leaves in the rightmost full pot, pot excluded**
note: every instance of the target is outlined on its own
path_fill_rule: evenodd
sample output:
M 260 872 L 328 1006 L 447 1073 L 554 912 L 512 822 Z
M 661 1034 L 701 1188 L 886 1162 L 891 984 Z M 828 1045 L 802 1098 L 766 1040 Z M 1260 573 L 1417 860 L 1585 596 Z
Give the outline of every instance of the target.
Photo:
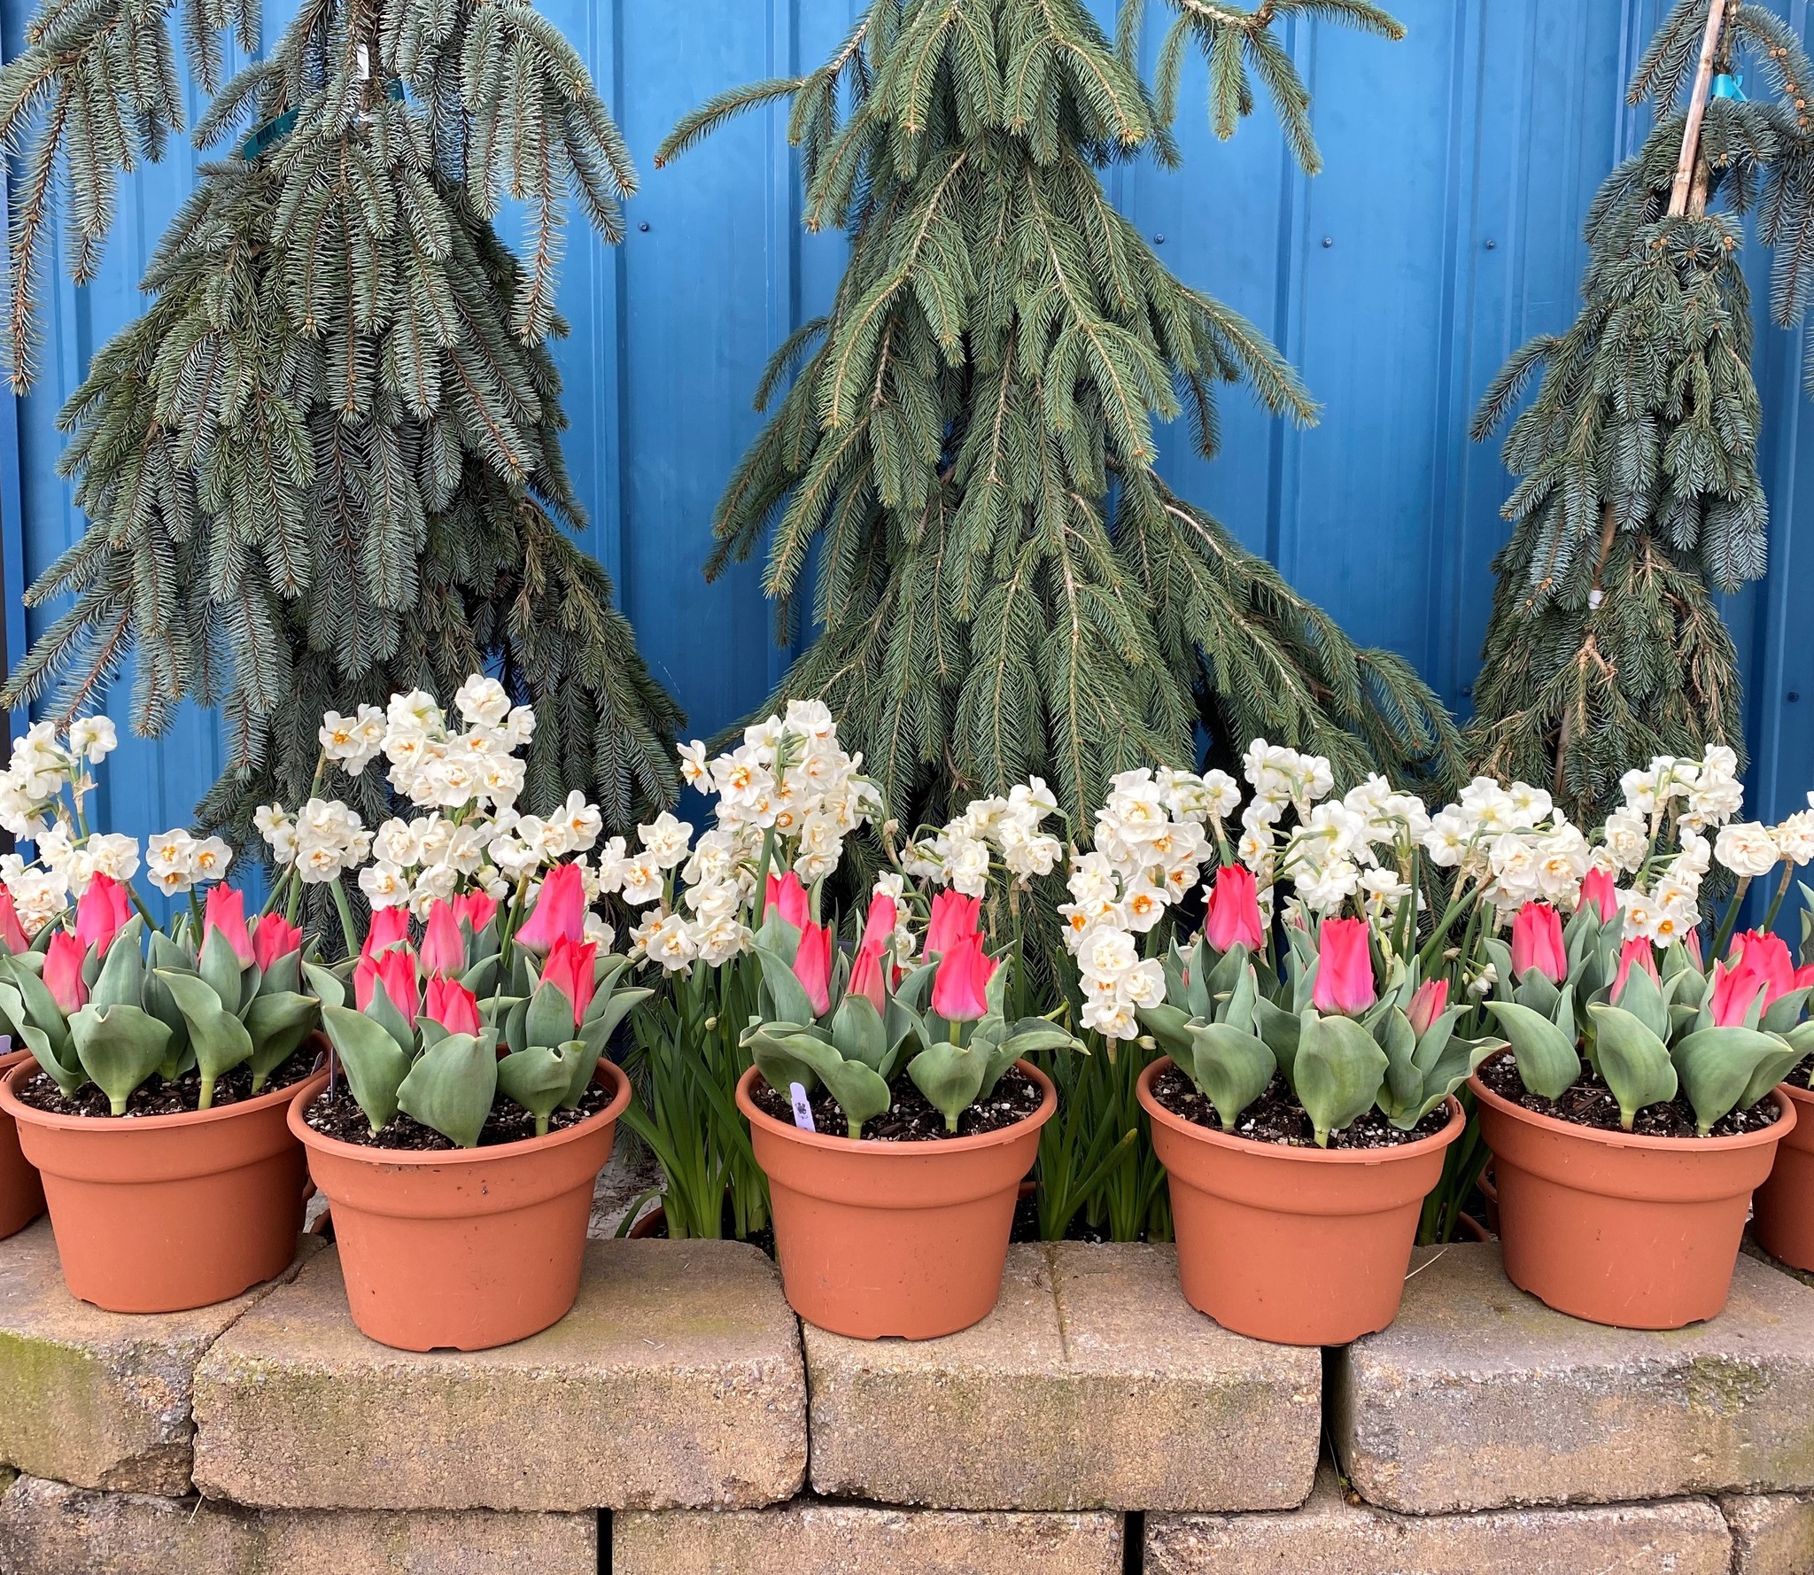
M 1520 913 L 1520 927 L 1536 907 Z M 1809 985 L 1796 983 L 1772 934 L 1740 936 L 1709 974 L 1682 942 L 1662 962 L 1645 938 L 1622 944 L 1622 916 L 1595 904 L 1582 904 L 1565 929 L 1547 909 L 1538 922 L 1558 931 L 1560 956 L 1542 945 L 1518 956 L 1517 929 L 1513 947 L 1487 942 L 1497 982 L 1486 1009 L 1533 1094 L 1560 1100 L 1587 1065 L 1618 1100 L 1627 1132 L 1647 1105 L 1682 1094 L 1707 1136 L 1814 1052 L 1814 1023 L 1803 1020 Z

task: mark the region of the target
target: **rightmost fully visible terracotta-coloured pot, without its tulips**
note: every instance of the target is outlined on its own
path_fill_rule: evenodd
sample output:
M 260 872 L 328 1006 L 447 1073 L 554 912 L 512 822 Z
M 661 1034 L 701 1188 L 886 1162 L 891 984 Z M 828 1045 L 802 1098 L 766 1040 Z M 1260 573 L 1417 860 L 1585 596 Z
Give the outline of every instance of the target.
M 1558 1312 L 1682 1328 L 1725 1306 L 1751 1194 L 1796 1123 L 1738 1138 L 1642 1138 L 1538 1116 L 1478 1078 L 1506 1276 Z

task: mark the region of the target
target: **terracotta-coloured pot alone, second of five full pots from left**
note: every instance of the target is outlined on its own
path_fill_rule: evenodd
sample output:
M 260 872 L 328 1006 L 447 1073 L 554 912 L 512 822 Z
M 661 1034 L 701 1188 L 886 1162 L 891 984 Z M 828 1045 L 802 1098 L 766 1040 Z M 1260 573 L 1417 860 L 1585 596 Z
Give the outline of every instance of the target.
M 327 1138 L 303 1120 L 327 1074 L 296 1091 L 290 1130 L 334 1212 L 346 1305 L 365 1334 L 401 1350 L 490 1350 L 566 1317 L 593 1185 L 629 1103 L 615 1065 L 599 1061 L 595 1080 L 610 1103 L 561 1132 L 428 1154 Z

